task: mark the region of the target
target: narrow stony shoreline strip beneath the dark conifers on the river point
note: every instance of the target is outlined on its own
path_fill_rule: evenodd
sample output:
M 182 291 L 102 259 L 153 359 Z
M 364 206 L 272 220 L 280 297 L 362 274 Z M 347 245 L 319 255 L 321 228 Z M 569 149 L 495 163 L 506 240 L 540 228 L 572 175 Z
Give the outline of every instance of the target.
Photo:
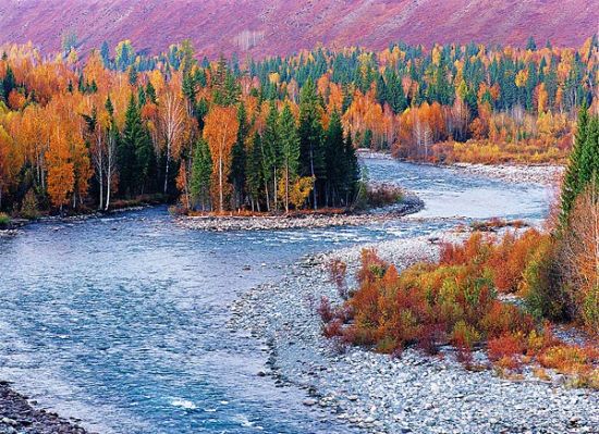
M 357 226 L 368 223 L 386 222 L 403 215 L 418 212 L 424 203 L 415 196 L 406 196 L 401 203 L 380 208 L 371 212 L 359 213 L 310 213 L 298 215 L 259 215 L 227 216 L 199 215 L 180 216 L 176 223 L 182 227 L 195 231 L 279 231 L 329 226 Z

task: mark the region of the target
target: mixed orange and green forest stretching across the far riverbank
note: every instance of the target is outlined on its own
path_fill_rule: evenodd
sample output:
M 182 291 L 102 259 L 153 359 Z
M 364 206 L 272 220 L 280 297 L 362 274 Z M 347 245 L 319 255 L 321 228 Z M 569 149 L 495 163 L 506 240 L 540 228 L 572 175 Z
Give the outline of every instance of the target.
M 56 57 L 0 48 L 0 210 L 178 198 L 184 210 L 350 207 L 355 150 L 431 162 L 564 162 L 597 111 L 597 36 L 578 48 L 396 44 L 197 59 L 127 40 Z

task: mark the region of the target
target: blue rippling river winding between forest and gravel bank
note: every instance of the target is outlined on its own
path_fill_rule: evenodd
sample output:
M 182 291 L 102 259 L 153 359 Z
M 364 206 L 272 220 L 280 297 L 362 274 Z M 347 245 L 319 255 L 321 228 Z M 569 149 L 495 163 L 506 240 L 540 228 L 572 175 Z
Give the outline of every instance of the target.
M 0 237 L 0 379 L 101 433 L 347 433 L 258 376 L 266 352 L 229 305 L 306 253 L 426 235 L 472 219 L 539 221 L 548 188 L 366 160 L 426 209 L 360 227 L 193 232 L 164 207 Z M 249 265 L 249 269 L 248 266 Z

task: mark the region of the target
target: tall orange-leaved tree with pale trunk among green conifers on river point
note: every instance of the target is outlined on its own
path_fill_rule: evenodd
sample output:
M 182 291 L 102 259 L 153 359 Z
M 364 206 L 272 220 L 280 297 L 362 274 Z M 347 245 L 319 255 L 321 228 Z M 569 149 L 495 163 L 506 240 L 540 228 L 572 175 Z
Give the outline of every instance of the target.
M 231 149 L 237 137 L 239 127 L 236 110 L 232 107 L 215 106 L 206 116 L 204 138 L 208 141 L 212 154 L 212 188 L 217 188 L 213 195 L 216 200 L 212 202 L 216 202 L 220 212 L 223 212 L 225 207 L 224 198 L 229 189 L 227 179 L 231 171 Z

